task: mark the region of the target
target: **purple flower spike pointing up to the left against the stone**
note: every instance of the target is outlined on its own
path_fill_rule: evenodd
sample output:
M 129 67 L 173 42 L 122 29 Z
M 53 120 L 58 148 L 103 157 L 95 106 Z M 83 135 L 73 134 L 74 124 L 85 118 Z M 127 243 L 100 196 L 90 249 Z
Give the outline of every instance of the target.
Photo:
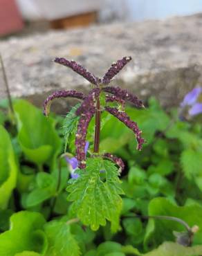
M 68 61 L 65 58 L 59 58 L 56 57 L 54 62 L 58 64 L 62 64 L 64 66 L 68 66 L 68 68 L 71 68 L 73 71 L 75 71 L 77 74 L 82 75 L 82 77 L 86 78 L 91 84 L 98 84 L 98 77 L 95 77 L 95 75 L 91 74 L 89 71 L 86 71 L 86 68 L 84 68 L 82 65 L 77 64 L 77 62 L 74 62 L 73 60 Z

